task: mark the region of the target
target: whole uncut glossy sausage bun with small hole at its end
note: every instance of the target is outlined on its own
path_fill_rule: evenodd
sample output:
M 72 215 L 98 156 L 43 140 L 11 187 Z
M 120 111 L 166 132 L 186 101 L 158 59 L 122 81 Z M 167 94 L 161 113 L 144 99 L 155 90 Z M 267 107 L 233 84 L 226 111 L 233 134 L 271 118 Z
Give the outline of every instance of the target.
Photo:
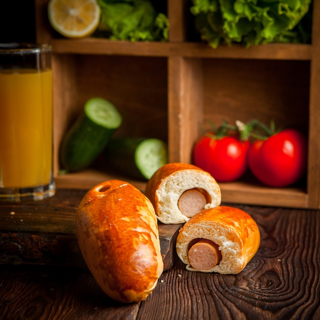
M 76 230 L 89 270 L 111 299 L 147 298 L 164 265 L 155 212 L 141 191 L 120 180 L 95 186 L 79 205 Z

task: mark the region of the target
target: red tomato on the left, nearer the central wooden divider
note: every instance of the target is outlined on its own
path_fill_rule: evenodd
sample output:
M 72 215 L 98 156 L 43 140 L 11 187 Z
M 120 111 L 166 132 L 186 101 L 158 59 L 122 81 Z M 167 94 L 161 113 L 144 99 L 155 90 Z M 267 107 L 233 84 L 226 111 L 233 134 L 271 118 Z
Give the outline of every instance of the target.
M 193 163 L 217 181 L 234 181 L 247 169 L 248 147 L 248 141 L 243 143 L 233 136 L 215 139 L 204 135 L 195 144 Z

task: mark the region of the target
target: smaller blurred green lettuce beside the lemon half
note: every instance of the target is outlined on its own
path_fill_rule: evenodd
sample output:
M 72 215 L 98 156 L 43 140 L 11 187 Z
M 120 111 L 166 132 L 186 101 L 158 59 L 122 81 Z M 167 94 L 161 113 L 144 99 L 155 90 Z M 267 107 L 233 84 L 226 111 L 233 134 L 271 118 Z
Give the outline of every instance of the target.
M 167 41 L 169 20 L 147 0 L 98 0 L 98 34 L 111 40 Z

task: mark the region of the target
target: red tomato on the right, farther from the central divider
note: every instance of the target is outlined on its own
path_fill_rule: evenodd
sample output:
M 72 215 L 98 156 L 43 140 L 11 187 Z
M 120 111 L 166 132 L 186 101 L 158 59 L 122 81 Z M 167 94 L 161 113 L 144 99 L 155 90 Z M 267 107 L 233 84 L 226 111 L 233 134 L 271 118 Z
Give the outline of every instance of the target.
M 294 129 L 286 129 L 267 140 L 255 141 L 248 152 L 252 173 L 270 187 L 286 187 L 298 181 L 307 168 L 307 140 Z

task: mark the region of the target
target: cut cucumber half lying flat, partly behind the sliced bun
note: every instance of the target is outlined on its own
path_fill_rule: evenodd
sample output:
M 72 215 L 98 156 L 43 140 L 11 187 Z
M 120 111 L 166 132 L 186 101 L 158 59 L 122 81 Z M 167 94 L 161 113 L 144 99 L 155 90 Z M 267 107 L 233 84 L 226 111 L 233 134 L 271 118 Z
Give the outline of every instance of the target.
M 132 178 L 148 180 L 167 164 L 167 144 L 159 139 L 112 138 L 105 154 L 111 167 Z

